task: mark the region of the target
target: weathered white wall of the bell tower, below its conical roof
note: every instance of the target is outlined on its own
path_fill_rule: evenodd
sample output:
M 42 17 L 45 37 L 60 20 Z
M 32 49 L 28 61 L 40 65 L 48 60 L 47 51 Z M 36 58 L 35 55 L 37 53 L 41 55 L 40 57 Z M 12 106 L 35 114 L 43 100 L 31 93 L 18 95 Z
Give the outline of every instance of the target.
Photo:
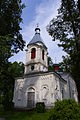
M 38 43 L 37 43 L 38 44 Z M 34 72 L 34 71 L 47 71 L 48 70 L 48 58 L 47 58 L 47 49 L 43 47 L 43 44 L 40 45 L 29 45 L 26 50 L 26 64 L 25 64 L 25 74 Z M 31 59 L 31 49 L 36 49 L 35 59 Z M 42 59 L 42 50 L 44 49 L 44 60 Z M 31 70 L 31 65 L 35 66 L 34 71 Z

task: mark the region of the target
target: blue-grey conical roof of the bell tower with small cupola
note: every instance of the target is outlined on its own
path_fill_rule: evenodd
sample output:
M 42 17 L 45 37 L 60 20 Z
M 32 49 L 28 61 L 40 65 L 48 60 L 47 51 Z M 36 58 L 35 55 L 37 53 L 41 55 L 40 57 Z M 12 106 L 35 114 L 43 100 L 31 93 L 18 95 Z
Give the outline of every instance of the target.
M 32 38 L 32 40 L 28 43 L 28 45 L 32 45 L 32 44 L 36 44 L 36 43 L 42 43 L 45 47 L 46 47 L 46 45 L 45 45 L 45 43 L 44 43 L 44 41 L 42 40 L 42 38 L 41 38 L 41 36 L 40 36 L 40 28 L 39 27 L 37 27 L 36 29 L 35 29 L 35 35 L 34 35 L 34 37 Z M 47 47 L 46 47 L 47 48 Z

